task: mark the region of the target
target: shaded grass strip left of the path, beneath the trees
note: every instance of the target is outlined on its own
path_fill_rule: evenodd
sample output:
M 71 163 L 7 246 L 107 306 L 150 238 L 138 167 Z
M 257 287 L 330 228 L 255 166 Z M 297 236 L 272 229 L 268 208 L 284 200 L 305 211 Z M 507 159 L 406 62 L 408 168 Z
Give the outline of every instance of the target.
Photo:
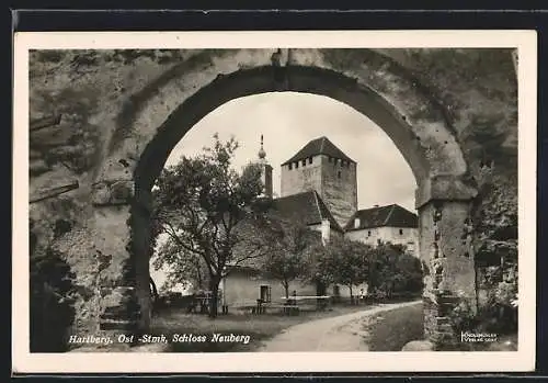
M 206 315 L 187 314 L 184 309 L 172 309 L 163 312 L 152 318 L 151 335 L 165 335 L 172 339 L 174 334 L 186 334 L 195 336 L 206 336 L 210 339 L 213 334 L 222 335 L 249 335 L 250 341 L 242 342 L 171 342 L 169 352 L 233 352 L 233 351 L 254 351 L 261 346 L 261 342 L 282 333 L 285 328 L 304 322 L 327 318 L 331 316 L 344 315 L 367 308 L 375 305 L 334 305 L 324 312 L 301 312 L 296 316 L 282 314 L 262 314 L 262 315 L 219 315 L 215 319 Z

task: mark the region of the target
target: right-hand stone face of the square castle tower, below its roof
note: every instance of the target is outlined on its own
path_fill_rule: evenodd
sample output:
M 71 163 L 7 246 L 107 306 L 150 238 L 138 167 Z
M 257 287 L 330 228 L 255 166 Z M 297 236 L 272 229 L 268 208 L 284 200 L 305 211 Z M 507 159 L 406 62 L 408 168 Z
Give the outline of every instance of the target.
M 347 162 L 346 162 L 347 164 Z M 356 165 L 341 165 L 321 156 L 321 185 L 318 190 L 335 221 L 344 227 L 357 211 Z

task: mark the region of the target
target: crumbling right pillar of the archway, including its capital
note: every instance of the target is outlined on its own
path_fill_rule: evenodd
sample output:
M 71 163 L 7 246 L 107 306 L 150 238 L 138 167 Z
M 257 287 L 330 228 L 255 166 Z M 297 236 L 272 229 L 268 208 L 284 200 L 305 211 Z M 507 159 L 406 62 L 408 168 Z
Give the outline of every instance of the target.
M 432 180 L 431 180 L 432 181 Z M 471 247 L 475 190 L 460 180 L 433 180 L 418 193 L 419 249 L 425 266 L 424 335 L 434 348 L 458 342 L 449 315 L 463 302 L 476 309 L 476 271 Z

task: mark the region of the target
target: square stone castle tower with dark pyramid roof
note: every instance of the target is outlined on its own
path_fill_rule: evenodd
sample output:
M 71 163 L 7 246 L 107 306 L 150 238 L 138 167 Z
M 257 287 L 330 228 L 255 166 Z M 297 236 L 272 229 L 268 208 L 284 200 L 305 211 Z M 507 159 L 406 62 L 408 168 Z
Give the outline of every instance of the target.
M 357 211 L 357 164 L 327 137 L 282 164 L 282 196 L 316 190 L 341 226 Z

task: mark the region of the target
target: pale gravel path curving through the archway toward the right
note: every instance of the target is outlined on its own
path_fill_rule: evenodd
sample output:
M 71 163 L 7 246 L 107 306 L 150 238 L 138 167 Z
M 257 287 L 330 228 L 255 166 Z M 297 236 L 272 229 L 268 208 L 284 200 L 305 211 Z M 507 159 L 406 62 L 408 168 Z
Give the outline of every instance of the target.
M 323 318 L 292 326 L 265 341 L 256 351 L 368 351 L 363 338 L 363 319 L 422 301 L 381 304 L 362 312 Z

